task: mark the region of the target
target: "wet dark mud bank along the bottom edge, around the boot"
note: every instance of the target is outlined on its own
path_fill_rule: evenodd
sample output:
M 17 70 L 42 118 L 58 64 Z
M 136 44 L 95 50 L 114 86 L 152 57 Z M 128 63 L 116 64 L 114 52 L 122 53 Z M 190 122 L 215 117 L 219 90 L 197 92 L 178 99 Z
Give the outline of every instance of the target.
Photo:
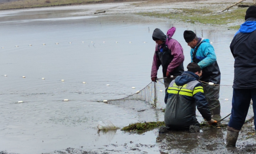
M 158 129 L 154 129 L 158 133 Z M 132 133 L 128 133 L 132 135 Z M 145 134 L 142 134 L 143 136 Z M 226 147 L 226 128 L 202 128 L 199 133 L 168 131 L 158 134 L 155 144 L 142 144 L 135 140 L 124 144 L 110 144 L 103 148 L 86 150 L 67 148 L 43 154 L 255 154 L 256 136 L 251 127 L 244 127 L 238 137 L 237 147 Z M 136 142 L 136 143 L 135 143 Z M 3 153 L 4 154 L 4 153 Z

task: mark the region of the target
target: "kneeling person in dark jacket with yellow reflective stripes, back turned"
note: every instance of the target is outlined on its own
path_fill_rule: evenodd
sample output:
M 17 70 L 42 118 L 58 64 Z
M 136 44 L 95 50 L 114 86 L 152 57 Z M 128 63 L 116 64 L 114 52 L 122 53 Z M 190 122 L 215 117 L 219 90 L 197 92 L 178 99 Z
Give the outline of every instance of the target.
M 202 84 L 198 81 L 202 75 L 202 69 L 196 63 L 191 62 L 185 71 L 173 80 L 166 92 L 165 124 L 167 129 L 190 130 L 200 124 L 196 119 L 196 107 L 209 125 L 217 121 L 211 119 L 208 103 L 203 95 Z

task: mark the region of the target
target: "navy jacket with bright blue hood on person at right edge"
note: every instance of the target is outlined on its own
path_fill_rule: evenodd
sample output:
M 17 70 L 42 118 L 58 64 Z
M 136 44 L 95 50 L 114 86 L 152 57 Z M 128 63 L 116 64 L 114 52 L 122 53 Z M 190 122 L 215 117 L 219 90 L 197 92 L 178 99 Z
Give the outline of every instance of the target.
M 233 88 L 256 88 L 256 18 L 248 18 L 230 44 L 235 59 Z M 253 31 L 252 31 L 253 30 Z M 247 33 L 246 33 L 247 32 Z

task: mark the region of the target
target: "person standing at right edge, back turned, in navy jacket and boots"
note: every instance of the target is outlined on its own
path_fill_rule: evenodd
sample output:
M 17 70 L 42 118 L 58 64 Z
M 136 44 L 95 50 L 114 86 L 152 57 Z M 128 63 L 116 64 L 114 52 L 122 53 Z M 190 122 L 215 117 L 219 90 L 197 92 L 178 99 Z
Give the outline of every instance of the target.
M 231 53 L 235 59 L 233 99 L 230 122 L 227 127 L 227 147 L 236 146 L 239 131 L 245 123 L 250 101 L 254 111 L 256 125 L 256 7 L 246 11 L 245 23 L 235 34 L 231 44 Z

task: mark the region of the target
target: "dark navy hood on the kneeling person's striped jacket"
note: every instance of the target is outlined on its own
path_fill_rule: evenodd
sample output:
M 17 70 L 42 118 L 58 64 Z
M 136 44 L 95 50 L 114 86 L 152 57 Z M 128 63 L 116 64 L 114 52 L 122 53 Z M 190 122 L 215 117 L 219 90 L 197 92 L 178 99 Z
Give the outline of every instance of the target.
M 184 73 L 181 74 L 181 76 L 176 77 L 175 83 L 178 86 L 187 84 L 188 82 L 199 80 L 199 76 L 196 75 L 193 72 L 184 71 Z

